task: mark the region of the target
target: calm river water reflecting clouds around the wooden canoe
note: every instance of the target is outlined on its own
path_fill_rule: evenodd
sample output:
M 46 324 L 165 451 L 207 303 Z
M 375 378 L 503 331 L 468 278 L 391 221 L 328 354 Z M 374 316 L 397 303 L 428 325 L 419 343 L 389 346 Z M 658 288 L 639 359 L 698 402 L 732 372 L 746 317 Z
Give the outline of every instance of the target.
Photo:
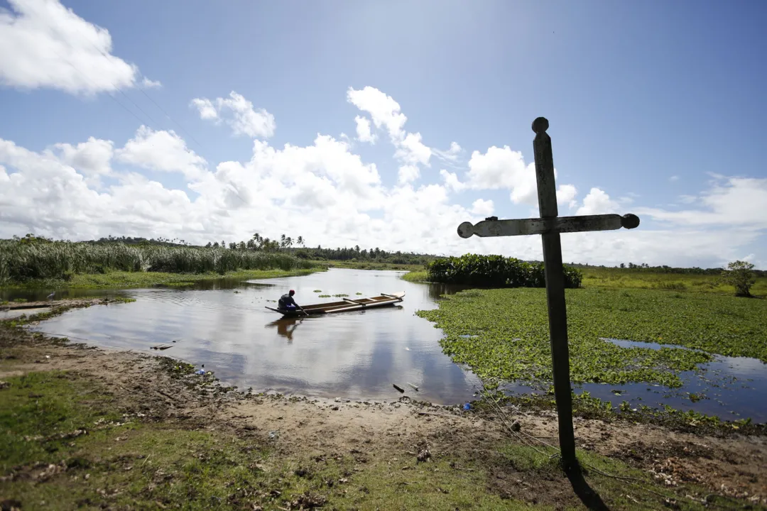
M 209 281 L 192 288 L 100 291 L 93 296 L 130 296 L 135 303 L 71 310 L 38 326 L 42 332 L 67 336 L 97 346 L 134 349 L 173 356 L 205 365 L 222 382 L 241 389 L 278 391 L 288 395 L 352 400 L 391 400 L 400 394 L 441 405 L 475 399 L 481 385 L 476 375 L 454 364 L 439 346 L 442 332 L 415 316 L 432 309 L 439 297 L 458 287 L 409 283 L 403 272 L 331 269 L 304 277 L 268 280 Z M 265 306 L 275 306 L 281 294 L 296 291 L 301 305 L 354 299 L 380 293 L 406 293 L 394 307 L 329 314 L 305 319 L 280 319 Z M 315 292 L 321 290 L 321 292 Z M 0 296 L 38 300 L 47 290 Z M 360 293 L 360 294 L 357 294 Z M 64 296 L 78 296 L 75 290 Z M 40 296 L 38 296 L 40 295 Z M 631 341 L 615 340 L 629 346 Z M 151 346 L 173 345 L 165 351 Z M 636 346 L 657 349 L 649 343 Z M 717 355 L 697 372 L 685 372 L 683 388 L 657 385 L 577 385 L 596 398 L 632 408 L 670 405 L 722 418 L 767 421 L 767 365 L 755 359 Z M 412 383 L 419 390 L 413 391 Z M 524 385 L 506 385 L 508 392 L 539 392 Z M 692 401 L 690 394 L 702 396 Z

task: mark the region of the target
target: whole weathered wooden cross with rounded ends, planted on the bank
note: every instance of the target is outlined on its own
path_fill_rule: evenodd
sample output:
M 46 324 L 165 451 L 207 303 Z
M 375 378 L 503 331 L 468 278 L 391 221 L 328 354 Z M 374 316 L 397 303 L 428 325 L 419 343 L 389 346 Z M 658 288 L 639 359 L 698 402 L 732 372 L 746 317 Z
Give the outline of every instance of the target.
M 463 222 L 458 226 L 460 237 L 519 236 L 541 234 L 543 264 L 548 302 L 548 334 L 551 339 L 551 365 L 554 373 L 554 394 L 557 401 L 559 447 L 565 470 L 578 466 L 575 459 L 575 438 L 572 420 L 570 387 L 570 353 L 568 350 L 568 321 L 565 310 L 565 273 L 562 270 L 562 232 L 609 231 L 639 226 L 637 215 L 584 215 L 560 217 L 557 208 L 557 189 L 554 182 L 554 159 L 551 156 L 551 137 L 548 120 L 538 117 L 532 123 L 535 132 L 535 175 L 538 179 L 538 208 L 541 218 L 499 220 L 486 218 L 476 225 Z

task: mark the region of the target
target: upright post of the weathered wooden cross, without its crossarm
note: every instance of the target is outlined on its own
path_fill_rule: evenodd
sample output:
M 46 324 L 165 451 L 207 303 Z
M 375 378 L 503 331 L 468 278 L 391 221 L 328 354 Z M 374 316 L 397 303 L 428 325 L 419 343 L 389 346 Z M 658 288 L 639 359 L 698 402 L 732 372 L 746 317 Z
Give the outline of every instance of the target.
M 535 132 L 535 176 L 538 179 L 538 208 L 541 218 L 556 218 L 557 188 L 554 179 L 554 156 L 548 120 L 538 117 L 532 123 Z M 565 273 L 562 270 L 562 247 L 559 232 L 552 229 L 541 235 L 543 264 L 546 277 L 548 303 L 548 334 L 551 339 L 551 363 L 554 374 L 554 395 L 557 401 L 559 448 L 565 471 L 577 465 L 573 431 L 572 395 L 570 387 L 570 352 L 568 348 L 568 320 L 565 307 Z

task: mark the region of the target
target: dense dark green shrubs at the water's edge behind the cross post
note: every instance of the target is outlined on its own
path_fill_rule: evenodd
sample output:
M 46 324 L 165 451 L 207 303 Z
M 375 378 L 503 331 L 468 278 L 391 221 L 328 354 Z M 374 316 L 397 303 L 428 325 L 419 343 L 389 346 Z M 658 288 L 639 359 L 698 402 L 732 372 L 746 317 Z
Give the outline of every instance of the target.
M 580 287 L 583 275 L 562 265 L 565 287 Z M 440 257 L 426 264 L 430 282 L 465 284 L 479 287 L 545 287 L 543 263 L 527 263 L 514 257 L 464 254 Z

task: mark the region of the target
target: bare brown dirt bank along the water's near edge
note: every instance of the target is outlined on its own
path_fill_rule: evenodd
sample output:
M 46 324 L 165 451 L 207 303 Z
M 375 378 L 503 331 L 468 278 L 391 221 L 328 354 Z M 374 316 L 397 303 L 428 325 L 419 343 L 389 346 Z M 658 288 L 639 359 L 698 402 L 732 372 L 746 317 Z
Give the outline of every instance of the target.
M 351 453 L 358 463 L 355 470 L 364 470 L 372 460 L 459 453 L 487 461 L 492 467 L 491 486 L 502 495 L 555 507 L 573 503 L 566 480 L 563 484 L 561 478 L 530 477 L 497 460 L 499 454 L 492 449 L 510 435 L 521 442 L 535 437 L 556 444 L 553 412 L 506 408 L 504 417 L 519 423 L 519 431 L 512 433 L 496 415 L 481 417 L 408 398 L 336 402 L 220 391 L 216 385 L 200 388 L 190 383 L 206 377 L 174 375 L 173 362 L 163 361 L 159 354 L 41 342 L 42 336 L 31 333 L 25 334 L 29 342 L 11 342 L 8 336 L 18 336 L 12 332 L 0 328 L 0 381 L 27 372 L 71 370 L 103 382 L 123 407 L 144 414 L 146 420 L 235 432 L 302 458 L 320 460 Z M 767 437 L 699 436 L 646 424 L 581 418 L 575 418 L 574 427 L 581 449 L 623 460 L 653 473 L 667 486 L 697 483 L 712 494 L 767 505 Z

